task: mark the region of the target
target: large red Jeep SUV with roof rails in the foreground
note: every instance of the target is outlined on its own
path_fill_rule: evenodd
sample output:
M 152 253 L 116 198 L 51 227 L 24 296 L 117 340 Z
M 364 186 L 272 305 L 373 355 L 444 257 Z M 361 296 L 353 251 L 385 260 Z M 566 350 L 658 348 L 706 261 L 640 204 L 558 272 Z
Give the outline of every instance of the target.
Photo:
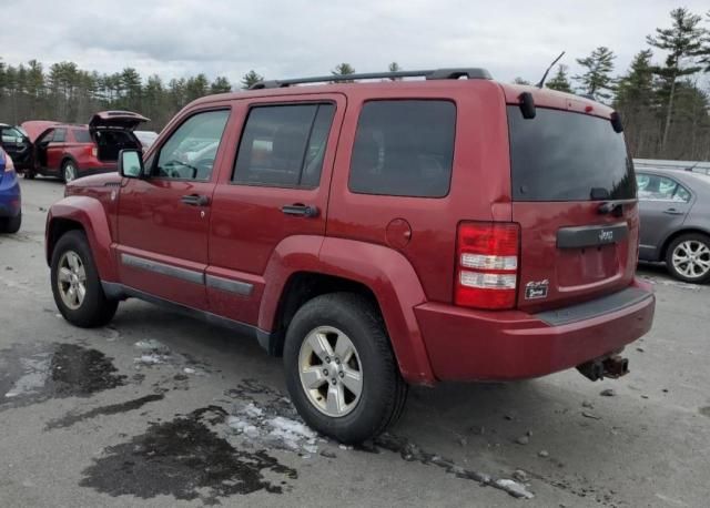
M 619 116 L 479 69 L 347 80 L 407 77 L 203 98 L 69 185 L 47 222 L 62 315 L 136 297 L 256 337 L 346 443 L 409 384 L 626 374 L 655 297 Z

